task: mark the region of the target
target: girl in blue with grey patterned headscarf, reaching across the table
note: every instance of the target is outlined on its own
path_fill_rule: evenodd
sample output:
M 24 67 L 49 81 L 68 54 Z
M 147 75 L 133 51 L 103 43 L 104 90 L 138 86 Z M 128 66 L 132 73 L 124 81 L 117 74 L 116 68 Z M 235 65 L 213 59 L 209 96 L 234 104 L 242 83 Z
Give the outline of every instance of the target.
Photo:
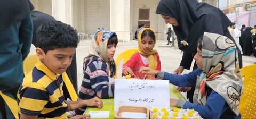
M 184 75 L 141 67 L 140 72 L 157 75 L 180 87 L 195 87 L 194 104 L 170 99 L 170 106 L 195 109 L 203 118 L 241 118 L 239 100 L 243 81 L 239 72 L 237 49 L 225 36 L 204 33 L 194 56 L 198 69 Z

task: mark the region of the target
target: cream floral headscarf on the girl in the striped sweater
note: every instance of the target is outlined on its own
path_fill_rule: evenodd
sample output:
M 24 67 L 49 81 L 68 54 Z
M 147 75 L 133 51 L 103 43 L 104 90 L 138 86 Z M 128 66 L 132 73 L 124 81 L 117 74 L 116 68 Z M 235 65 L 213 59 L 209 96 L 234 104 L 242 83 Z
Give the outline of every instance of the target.
M 103 61 L 107 64 L 107 74 L 109 77 L 114 78 L 116 73 L 116 63 L 114 59 L 108 61 L 108 40 L 114 35 L 115 32 L 102 32 L 98 31 L 94 34 L 94 39 L 91 41 L 91 45 L 89 47 L 89 55 L 84 58 L 84 62 L 88 60 L 91 56 L 98 56 L 102 58 Z

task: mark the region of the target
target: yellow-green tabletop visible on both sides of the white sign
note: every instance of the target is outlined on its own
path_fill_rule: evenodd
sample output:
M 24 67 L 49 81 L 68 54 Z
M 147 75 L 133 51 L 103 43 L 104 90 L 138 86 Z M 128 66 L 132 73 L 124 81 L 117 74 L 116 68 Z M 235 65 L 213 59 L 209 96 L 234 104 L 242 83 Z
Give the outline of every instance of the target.
M 186 100 L 185 97 L 175 89 L 175 87 L 170 84 L 170 97 L 176 97 L 182 100 Z M 110 111 L 109 118 L 114 118 L 115 111 L 114 111 L 114 98 L 110 99 L 102 99 L 103 102 L 103 107 L 101 109 L 98 109 L 98 107 L 89 107 L 86 111 L 85 114 L 89 114 L 89 111 Z M 172 107 L 170 108 L 178 108 L 178 107 Z

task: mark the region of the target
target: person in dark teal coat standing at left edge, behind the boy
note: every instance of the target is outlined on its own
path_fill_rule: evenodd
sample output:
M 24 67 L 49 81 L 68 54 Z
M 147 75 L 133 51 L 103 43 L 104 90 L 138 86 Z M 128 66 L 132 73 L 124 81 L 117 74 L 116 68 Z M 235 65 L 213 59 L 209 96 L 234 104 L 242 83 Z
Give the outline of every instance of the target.
M 33 23 L 28 0 L 0 4 L 0 118 L 18 118 L 17 93 L 24 77 L 22 63 L 30 52 Z

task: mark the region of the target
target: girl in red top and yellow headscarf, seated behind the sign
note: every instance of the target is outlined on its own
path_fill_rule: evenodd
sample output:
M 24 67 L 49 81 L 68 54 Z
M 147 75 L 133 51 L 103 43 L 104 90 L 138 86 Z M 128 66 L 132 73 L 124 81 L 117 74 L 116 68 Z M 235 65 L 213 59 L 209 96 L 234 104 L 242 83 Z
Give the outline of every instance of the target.
M 131 74 L 132 78 L 156 79 L 154 75 L 139 73 L 141 66 L 150 67 L 154 70 L 161 70 L 161 62 L 157 51 L 154 48 L 156 44 L 155 32 L 150 28 L 143 28 L 138 35 L 139 52 L 135 53 L 129 61 L 123 65 L 123 75 Z

